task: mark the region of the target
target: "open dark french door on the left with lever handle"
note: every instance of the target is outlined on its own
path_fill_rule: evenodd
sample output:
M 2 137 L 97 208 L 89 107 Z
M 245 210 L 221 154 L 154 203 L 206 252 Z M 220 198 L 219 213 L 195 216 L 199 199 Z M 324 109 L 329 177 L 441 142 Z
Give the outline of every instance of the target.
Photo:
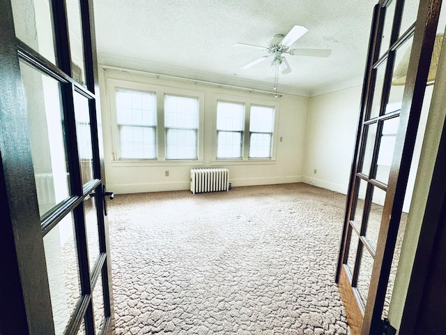
M 1 1 L 0 31 L 0 334 L 112 334 L 92 1 Z

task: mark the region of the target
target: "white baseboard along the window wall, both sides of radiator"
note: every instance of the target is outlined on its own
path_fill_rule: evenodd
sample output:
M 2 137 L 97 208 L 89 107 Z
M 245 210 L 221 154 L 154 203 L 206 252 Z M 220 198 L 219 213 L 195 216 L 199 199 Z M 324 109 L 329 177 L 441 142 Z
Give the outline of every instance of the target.
M 302 182 L 302 176 L 289 177 L 263 177 L 263 178 L 240 178 L 229 179 L 232 186 L 257 186 L 272 184 L 289 184 Z M 189 181 L 172 181 L 142 184 L 107 184 L 107 190 L 116 194 L 161 192 L 161 191 L 183 191 L 190 190 Z

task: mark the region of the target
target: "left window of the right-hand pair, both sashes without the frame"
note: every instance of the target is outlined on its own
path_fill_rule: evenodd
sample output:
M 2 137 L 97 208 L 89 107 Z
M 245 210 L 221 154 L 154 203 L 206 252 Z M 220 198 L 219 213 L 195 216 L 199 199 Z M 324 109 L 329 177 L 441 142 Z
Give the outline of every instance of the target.
M 217 158 L 242 158 L 245 105 L 217 102 Z

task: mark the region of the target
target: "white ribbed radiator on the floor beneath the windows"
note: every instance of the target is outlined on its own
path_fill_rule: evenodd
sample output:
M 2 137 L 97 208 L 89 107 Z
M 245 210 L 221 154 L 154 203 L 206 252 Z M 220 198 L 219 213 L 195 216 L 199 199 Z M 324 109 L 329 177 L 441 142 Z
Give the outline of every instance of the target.
M 229 191 L 229 169 L 190 170 L 190 191 L 193 194 Z

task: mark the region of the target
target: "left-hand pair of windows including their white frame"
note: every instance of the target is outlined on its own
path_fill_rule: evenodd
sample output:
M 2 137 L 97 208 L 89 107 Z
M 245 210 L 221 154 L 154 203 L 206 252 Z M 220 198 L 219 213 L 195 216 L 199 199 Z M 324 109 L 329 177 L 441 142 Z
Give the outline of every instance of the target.
M 204 92 L 115 78 L 107 92 L 117 165 L 203 165 Z

